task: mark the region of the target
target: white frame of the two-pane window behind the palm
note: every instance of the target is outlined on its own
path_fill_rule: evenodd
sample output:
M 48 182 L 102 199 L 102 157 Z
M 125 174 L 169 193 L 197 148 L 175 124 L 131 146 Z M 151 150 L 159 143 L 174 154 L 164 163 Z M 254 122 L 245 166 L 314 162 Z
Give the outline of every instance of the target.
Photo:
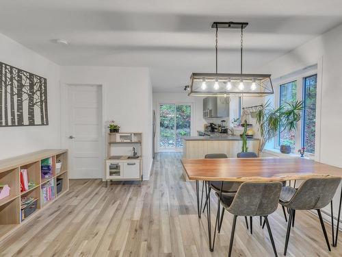
M 280 106 L 280 86 L 290 83 L 290 82 L 295 82 L 297 84 L 296 88 L 296 99 L 301 100 L 304 102 L 304 82 L 306 77 L 311 77 L 313 75 L 317 75 L 317 96 L 316 96 L 316 127 L 315 127 L 315 154 L 317 152 L 317 125 L 320 124 L 320 117 L 317 116 L 317 114 L 320 112 L 320 106 L 319 106 L 319 99 L 320 99 L 320 91 L 319 91 L 319 74 L 317 72 L 317 66 L 313 69 L 307 69 L 304 71 L 299 71 L 296 73 L 293 73 L 293 75 L 288 75 L 284 77 L 280 77 L 279 79 L 276 79 L 276 83 L 274 86 L 274 106 L 275 108 L 278 108 Z M 303 119 L 303 114 L 304 110 L 302 110 L 301 113 L 301 119 L 298 121 L 297 124 L 297 130 L 295 130 L 295 149 L 291 149 L 291 152 L 293 154 L 297 153 L 298 149 L 302 148 L 303 145 L 303 138 L 304 138 L 304 119 Z M 318 119 L 319 118 L 319 121 Z M 279 132 L 277 136 L 274 138 L 274 149 L 280 149 L 280 138 L 279 138 Z M 315 158 L 315 154 L 312 153 L 306 153 L 306 156 L 310 158 Z

